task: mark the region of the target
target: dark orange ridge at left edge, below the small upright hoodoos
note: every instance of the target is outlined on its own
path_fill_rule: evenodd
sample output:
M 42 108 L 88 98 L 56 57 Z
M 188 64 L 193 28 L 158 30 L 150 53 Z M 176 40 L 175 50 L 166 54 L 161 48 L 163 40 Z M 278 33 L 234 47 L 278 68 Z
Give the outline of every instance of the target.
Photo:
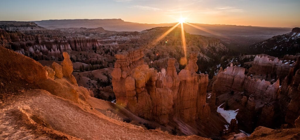
M 67 79 L 52 79 L 55 70 L 43 67 L 27 56 L 0 47 L 0 59 L 0 78 L 2 82 L 21 83 L 9 85 L 13 88 L 27 86 L 31 89 L 44 89 L 53 95 L 74 102 L 78 101 L 79 96 L 83 96 L 83 99 L 85 99 L 89 95 L 87 89 L 72 85 Z

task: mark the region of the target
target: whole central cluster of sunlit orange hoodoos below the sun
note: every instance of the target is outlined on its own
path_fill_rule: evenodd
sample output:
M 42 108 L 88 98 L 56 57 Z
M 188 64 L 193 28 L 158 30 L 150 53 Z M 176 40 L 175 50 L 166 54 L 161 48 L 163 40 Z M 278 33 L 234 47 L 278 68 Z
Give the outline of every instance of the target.
M 167 124 L 170 115 L 184 122 L 207 118 L 208 75 L 196 74 L 196 55 L 190 54 L 186 68 L 177 75 L 176 59 L 169 59 L 167 70 L 157 73 L 143 64 L 142 49 L 116 54 L 112 72 L 116 103 L 160 124 Z

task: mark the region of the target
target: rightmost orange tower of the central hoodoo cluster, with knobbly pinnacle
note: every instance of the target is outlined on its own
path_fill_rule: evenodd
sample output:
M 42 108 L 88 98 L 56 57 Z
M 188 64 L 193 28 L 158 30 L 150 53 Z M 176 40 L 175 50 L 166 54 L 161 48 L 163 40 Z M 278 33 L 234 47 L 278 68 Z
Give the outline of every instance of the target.
M 193 121 L 196 118 L 205 119 L 210 113 L 206 103 L 208 75 L 196 74 L 197 60 L 197 54 L 191 53 L 187 66 L 178 74 L 180 84 L 175 109 L 186 121 Z

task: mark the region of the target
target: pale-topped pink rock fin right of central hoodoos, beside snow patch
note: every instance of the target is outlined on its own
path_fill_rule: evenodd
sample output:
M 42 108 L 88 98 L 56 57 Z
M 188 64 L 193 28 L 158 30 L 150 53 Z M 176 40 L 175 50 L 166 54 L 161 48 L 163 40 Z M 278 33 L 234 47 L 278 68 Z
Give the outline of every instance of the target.
M 271 84 L 269 81 L 246 76 L 244 71 L 244 68 L 235 66 L 219 71 L 212 86 L 211 109 L 216 110 L 215 96 L 229 94 L 237 97 L 246 95 L 238 98 L 241 101 L 233 100 L 234 105 L 232 107 L 239 109 L 236 116 L 239 128 L 250 133 L 256 127 L 257 120 L 259 125 L 274 127 L 277 125 L 274 121 L 278 117 L 275 113 L 278 107 L 275 108 L 273 103 L 278 100 L 280 93 L 279 79 Z M 269 118 L 268 121 L 264 121 L 265 118 Z

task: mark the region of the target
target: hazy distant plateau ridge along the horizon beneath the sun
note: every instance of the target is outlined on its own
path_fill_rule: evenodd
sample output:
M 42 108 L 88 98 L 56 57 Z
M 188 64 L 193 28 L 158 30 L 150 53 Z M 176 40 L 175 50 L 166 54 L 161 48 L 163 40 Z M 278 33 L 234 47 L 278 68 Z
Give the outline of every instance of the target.
M 62 19 L 62 20 L 42 20 L 33 21 L 39 26 L 48 29 L 57 28 L 98 28 L 103 27 L 109 31 L 143 31 L 154 27 L 174 26 L 177 23 L 162 24 L 141 24 L 128 22 L 122 19 Z M 208 37 L 215 37 L 224 41 L 231 49 L 238 53 L 245 53 L 244 50 L 249 45 L 271 38 L 272 36 L 289 33 L 292 28 L 282 27 L 255 27 L 255 26 L 237 26 L 221 24 L 199 24 L 191 23 L 204 30 L 197 29 L 184 24 L 184 30 L 190 34 L 197 34 Z

